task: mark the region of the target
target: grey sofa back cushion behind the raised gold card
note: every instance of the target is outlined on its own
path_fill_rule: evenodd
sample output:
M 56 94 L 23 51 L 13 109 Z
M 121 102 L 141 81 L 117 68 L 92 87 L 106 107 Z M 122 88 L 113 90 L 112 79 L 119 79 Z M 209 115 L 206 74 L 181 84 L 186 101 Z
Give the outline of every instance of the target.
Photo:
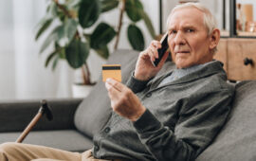
M 125 83 L 133 72 L 137 62 L 138 51 L 117 50 L 108 63 L 121 64 L 122 83 Z M 75 125 L 83 134 L 93 136 L 105 125 L 112 112 L 110 100 L 102 82 L 102 77 L 87 98 L 82 100 L 75 113 Z

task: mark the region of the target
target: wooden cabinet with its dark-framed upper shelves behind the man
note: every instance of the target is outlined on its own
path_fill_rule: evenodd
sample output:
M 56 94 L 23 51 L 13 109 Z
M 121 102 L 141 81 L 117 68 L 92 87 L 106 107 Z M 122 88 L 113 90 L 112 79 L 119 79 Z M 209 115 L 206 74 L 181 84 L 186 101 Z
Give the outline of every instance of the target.
M 222 32 L 227 37 L 221 38 L 214 59 L 224 63 L 229 80 L 256 80 L 256 32 L 236 30 L 237 2 L 245 5 L 242 0 L 229 0 L 229 33 Z

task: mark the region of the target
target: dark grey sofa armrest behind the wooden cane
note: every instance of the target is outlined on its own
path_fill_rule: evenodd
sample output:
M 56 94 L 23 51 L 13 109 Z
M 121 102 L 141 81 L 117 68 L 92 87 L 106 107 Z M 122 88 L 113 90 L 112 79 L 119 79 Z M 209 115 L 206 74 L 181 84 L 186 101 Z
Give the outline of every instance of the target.
M 41 117 L 33 130 L 75 129 L 74 114 L 82 98 L 48 99 L 53 119 Z M 14 100 L 0 102 L 0 133 L 22 132 L 38 113 L 41 100 Z

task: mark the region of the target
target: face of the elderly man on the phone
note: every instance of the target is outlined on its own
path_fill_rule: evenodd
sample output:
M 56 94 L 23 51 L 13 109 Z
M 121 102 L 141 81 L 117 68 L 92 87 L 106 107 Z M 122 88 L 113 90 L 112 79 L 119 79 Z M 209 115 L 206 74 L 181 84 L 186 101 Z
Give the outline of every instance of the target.
M 212 60 L 210 36 L 199 9 L 177 9 L 168 24 L 168 45 L 177 68 Z

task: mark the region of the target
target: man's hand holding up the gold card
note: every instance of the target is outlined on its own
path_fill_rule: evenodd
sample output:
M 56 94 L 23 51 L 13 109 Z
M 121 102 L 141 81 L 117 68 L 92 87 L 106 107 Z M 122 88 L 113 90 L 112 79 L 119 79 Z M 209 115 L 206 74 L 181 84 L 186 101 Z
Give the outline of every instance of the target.
M 111 100 L 111 106 L 119 116 L 136 121 L 146 111 L 133 91 L 119 81 L 107 79 L 105 86 Z

